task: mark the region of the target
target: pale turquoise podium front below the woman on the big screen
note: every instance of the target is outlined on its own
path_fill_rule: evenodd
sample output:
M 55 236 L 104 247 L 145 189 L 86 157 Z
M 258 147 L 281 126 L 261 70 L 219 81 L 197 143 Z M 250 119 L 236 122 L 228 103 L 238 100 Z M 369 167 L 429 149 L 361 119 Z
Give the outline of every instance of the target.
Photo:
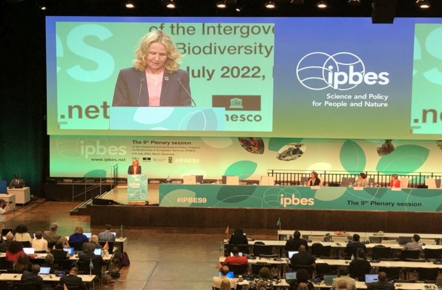
M 225 108 L 111 107 L 110 129 L 224 131 Z

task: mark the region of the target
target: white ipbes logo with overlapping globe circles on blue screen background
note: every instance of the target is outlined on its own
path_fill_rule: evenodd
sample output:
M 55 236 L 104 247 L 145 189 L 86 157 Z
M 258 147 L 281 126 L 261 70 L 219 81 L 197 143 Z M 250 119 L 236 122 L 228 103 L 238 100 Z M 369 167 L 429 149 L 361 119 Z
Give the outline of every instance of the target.
M 313 52 L 305 55 L 296 66 L 296 76 L 306 88 L 321 90 L 333 88 L 348 90 L 361 83 L 387 85 L 389 73 L 366 72 L 365 64 L 357 55 L 340 52 L 329 55 Z

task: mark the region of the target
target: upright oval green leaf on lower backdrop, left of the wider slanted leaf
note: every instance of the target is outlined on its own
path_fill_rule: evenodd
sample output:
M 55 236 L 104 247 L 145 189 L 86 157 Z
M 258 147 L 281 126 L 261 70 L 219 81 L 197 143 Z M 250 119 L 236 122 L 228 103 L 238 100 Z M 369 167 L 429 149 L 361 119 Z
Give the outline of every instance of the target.
M 348 173 L 359 173 L 365 168 L 366 158 L 364 150 L 354 141 L 347 140 L 341 147 L 339 159 L 342 167 Z

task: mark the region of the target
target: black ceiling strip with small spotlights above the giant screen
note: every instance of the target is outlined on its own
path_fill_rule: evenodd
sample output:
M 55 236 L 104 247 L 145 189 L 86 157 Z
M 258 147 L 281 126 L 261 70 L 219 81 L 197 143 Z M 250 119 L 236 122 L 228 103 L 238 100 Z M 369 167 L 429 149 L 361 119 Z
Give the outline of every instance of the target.
M 227 7 L 216 7 L 217 0 L 175 0 L 176 9 L 165 7 L 164 0 L 133 0 L 134 9 L 125 6 L 126 0 L 0 0 L 3 11 L 20 10 L 44 15 L 97 15 L 97 16 L 267 16 L 267 17 L 371 17 L 373 0 L 360 0 L 359 5 L 349 5 L 348 0 L 327 0 L 328 7 L 316 7 L 318 0 L 276 0 L 275 9 L 264 7 L 266 0 L 226 0 Z M 396 0 L 376 0 L 386 5 Z M 441 17 L 442 1 L 430 0 L 429 9 L 417 7 L 416 0 L 397 0 L 395 17 Z M 41 5 L 46 11 L 39 10 Z M 241 12 L 235 8 L 240 6 Z M 384 4 L 382 4 L 384 5 Z M 383 10 L 383 7 L 379 7 Z M 6 12 L 7 13 L 7 12 Z

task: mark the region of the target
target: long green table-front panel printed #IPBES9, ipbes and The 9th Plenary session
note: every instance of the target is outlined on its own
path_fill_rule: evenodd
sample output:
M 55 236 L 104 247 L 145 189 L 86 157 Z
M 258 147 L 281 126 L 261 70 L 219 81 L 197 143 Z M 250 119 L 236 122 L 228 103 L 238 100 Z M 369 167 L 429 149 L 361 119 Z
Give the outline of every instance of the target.
M 438 212 L 441 201 L 440 189 L 160 184 L 160 206 Z

